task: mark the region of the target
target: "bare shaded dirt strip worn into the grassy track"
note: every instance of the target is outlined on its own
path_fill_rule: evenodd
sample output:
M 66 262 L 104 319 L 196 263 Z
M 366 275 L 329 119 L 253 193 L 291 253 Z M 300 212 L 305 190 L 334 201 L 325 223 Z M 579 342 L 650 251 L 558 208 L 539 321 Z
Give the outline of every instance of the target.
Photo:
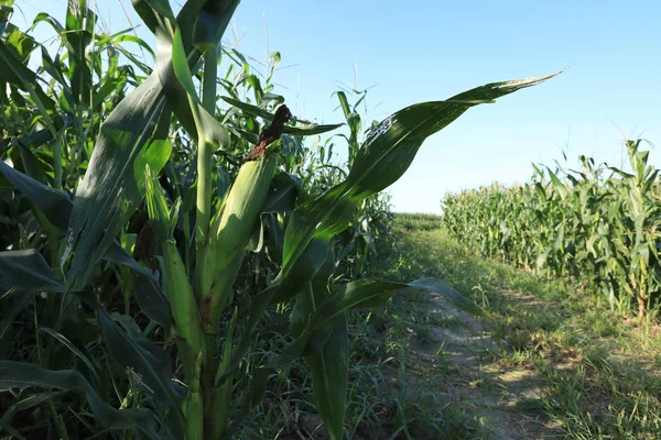
M 557 429 L 534 410 L 544 393 L 544 380 L 533 370 L 499 363 L 503 343 L 499 346 L 485 323 L 441 295 L 429 295 L 426 310 L 432 318 L 440 315 L 445 320 L 454 319 L 448 326 L 431 326 L 424 338 L 413 336 L 410 349 L 421 364 L 437 367 L 443 363 L 448 370 L 442 380 L 446 382 L 448 405 L 458 405 L 481 418 L 487 439 L 557 438 Z M 533 297 L 517 296 L 521 307 L 546 307 Z M 427 384 L 423 375 L 409 377 L 412 393 Z

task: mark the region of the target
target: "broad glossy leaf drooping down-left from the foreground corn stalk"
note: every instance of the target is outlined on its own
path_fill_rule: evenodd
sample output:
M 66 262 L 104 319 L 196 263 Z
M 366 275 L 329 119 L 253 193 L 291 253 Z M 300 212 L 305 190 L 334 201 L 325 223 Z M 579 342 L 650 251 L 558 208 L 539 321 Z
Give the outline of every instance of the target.
M 144 86 L 149 87 L 140 95 Z M 99 141 L 74 199 L 63 255 L 63 266 L 73 255 L 68 270 L 63 271 L 67 285 L 73 288 L 85 285 L 94 265 L 142 200 L 145 166 L 158 173 L 170 157 L 169 141 L 148 142 L 161 113 L 159 95 L 158 78 L 151 76 L 124 98 L 101 125 Z M 143 109 L 151 118 L 144 120 L 145 114 L 137 113 L 137 109 Z M 138 125 L 140 123 L 144 125 Z M 148 146 L 141 150 L 144 144 Z

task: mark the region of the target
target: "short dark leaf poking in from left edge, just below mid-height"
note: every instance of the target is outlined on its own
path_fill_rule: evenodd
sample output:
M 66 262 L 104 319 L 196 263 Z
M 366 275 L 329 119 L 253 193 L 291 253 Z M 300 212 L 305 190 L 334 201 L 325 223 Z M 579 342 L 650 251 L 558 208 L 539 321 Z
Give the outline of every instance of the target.
M 66 288 L 34 249 L 0 252 L 0 288 L 62 293 Z

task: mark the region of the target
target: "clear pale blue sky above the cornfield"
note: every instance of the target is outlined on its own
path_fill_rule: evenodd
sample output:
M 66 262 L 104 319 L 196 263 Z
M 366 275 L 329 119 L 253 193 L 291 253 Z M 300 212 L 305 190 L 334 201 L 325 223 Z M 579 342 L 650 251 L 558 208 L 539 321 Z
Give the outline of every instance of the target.
M 140 23 L 130 0 L 121 1 Z M 111 30 L 127 28 L 119 0 L 97 3 Z M 181 2 L 172 4 L 178 9 Z M 296 116 L 318 122 L 342 121 L 332 94 L 338 84 L 354 85 L 355 65 L 359 88 L 375 86 L 368 116 L 378 120 L 486 82 L 572 68 L 474 108 L 430 138 L 389 189 L 395 210 L 440 212 L 446 191 L 525 180 L 531 162 L 552 165 L 563 150 L 570 165 L 586 154 L 619 166 L 622 134 L 661 143 L 658 0 L 402 4 L 243 0 L 234 25 L 239 48 L 263 59 L 266 18 L 269 48 L 281 52 L 282 66 L 291 66 L 277 74 L 278 91 Z M 18 0 L 17 6 L 31 21 L 37 9 L 62 18 L 66 1 Z M 138 32 L 150 41 L 144 26 Z M 661 167 L 661 151 L 651 160 Z

